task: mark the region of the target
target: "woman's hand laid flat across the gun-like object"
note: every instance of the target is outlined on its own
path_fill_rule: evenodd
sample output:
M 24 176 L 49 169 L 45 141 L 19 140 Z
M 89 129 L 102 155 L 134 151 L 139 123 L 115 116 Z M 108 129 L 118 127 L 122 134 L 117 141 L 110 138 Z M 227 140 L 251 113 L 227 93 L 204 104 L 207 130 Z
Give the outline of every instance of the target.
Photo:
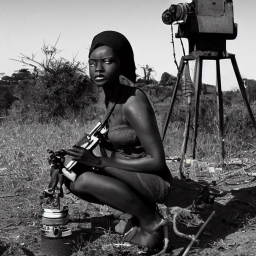
M 73 146 L 66 150 L 68 155 L 73 156 L 72 160 L 80 162 L 90 167 L 101 167 L 101 157 L 97 157 L 92 151 L 80 146 Z

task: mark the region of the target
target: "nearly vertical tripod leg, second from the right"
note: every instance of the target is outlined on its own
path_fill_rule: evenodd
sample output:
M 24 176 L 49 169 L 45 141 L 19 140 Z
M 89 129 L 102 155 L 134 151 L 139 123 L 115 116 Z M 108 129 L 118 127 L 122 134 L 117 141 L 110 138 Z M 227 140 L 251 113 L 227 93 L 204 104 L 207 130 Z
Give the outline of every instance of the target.
M 220 143 L 219 156 L 220 156 L 220 163 L 222 165 L 225 157 L 225 147 L 224 147 L 223 98 L 222 98 L 222 90 L 221 90 L 219 59 L 216 59 L 216 96 L 217 96 L 217 108 L 218 108 L 218 138 Z

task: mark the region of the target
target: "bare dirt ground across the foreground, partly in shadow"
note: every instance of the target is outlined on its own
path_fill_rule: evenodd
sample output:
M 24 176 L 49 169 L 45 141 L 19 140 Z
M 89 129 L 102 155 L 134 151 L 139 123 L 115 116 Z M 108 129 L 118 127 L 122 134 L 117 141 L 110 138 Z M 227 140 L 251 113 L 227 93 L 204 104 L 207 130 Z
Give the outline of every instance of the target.
M 177 164 L 172 164 L 171 168 L 177 169 Z M 39 199 L 42 191 L 32 187 L 29 179 L 22 180 L 13 187 L 4 176 L 0 178 L 0 255 L 43 255 L 40 233 L 42 205 Z M 47 181 L 45 182 L 47 184 Z M 203 221 L 213 210 L 216 212 L 199 236 L 199 242 L 193 245 L 188 255 L 255 255 L 256 178 L 239 172 L 230 177 L 222 175 L 212 187 L 220 189 L 223 193 L 211 198 L 211 203 L 205 203 L 208 198 L 202 193 L 202 187 L 198 182 L 184 182 L 175 176 L 172 192 L 165 201 L 167 207 L 191 208 L 193 205 L 194 214 Z M 68 198 L 65 202 L 69 203 L 70 207 L 81 203 L 81 200 L 75 197 L 65 196 Z M 100 239 L 100 233 L 94 233 L 91 238 L 93 233 L 85 221 L 88 216 L 95 214 L 94 210 L 87 208 L 79 219 L 77 214 L 76 217 L 72 216 L 74 211 L 70 212 L 73 222 L 68 225 L 74 232 L 80 233 L 83 240 Z M 179 223 L 178 229 L 186 234 L 195 234 L 200 225 Z M 181 256 L 189 241 L 176 236 L 171 226 L 169 230 L 170 245 L 166 255 Z M 73 242 L 79 243 L 78 240 Z

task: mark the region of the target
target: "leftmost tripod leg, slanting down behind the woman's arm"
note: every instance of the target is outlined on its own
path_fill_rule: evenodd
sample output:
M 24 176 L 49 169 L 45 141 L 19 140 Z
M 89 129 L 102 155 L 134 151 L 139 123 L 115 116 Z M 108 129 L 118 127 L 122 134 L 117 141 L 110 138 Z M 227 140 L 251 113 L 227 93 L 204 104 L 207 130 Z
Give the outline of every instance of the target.
M 162 129 L 162 141 L 164 139 L 164 136 L 165 136 L 165 133 L 166 133 L 166 130 L 167 130 L 167 126 L 168 126 L 168 123 L 169 123 L 169 120 L 170 120 L 171 111 L 172 111 L 174 101 L 175 101 L 175 98 L 176 98 L 176 95 L 177 95 L 178 84 L 179 84 L 179 81 L 180 81 L 180 77 L 182 76 L 182 73 L 183 73 L 184 65 L 185 65 L 184 58 L 181 57 L 180 62 L 179 62 L 179 67 L 178 67 L 179 71 L 178 71 L 178 74 L 177 74 L 177 79 L 176 79 L 176 82 L 175 82 L 175 85 L 174 85 L 174 88 L 173 88 L 173 91 L 172 91 L 171 99 L 170 99 L 168 115 L 167 115 L 167 118 L 165 120 L 163 129 Z

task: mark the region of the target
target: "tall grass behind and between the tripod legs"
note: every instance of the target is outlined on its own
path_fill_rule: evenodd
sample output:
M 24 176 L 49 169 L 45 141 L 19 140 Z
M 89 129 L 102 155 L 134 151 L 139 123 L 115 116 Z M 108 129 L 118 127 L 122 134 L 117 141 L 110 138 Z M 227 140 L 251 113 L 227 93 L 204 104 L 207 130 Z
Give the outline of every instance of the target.
M 167 117 L 169 102 L 154 104 L 159 130 L 162 131 Z M 250 104 L 252 112 L 256 114 L 256 102 Z M 179 99 L 174 104 L 172 114 L 164 138 L 164 149 L 166 156 L 181 155 L 181 148 L 184 136 L 184 124 L 186 116 L 186 102 Z M 196 158 L 205 161 L 219 162 L 220 143 L 218 138 L 217 109 L 214 98 L 209 95 L 201 96 L 198 132 L 196 139 Z M 191 109 L 191 120 L 189 128 L 189 139 L 186 157 L 192 153 L 193 138 L 193 108 Z M 252 156 L 250 150 L 255 149 L 255 131 L 247 114 L 243 102 L 224 104 L 224 143 L 226 159 L 240 157 L 244 154 Z

